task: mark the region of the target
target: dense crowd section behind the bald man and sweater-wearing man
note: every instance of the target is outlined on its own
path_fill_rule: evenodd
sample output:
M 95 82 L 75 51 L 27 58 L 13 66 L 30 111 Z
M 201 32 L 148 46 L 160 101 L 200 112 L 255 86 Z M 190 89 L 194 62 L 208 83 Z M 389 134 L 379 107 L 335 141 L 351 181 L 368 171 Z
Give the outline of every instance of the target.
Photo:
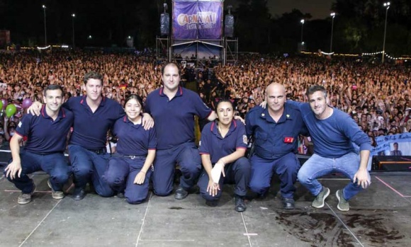
M 364 61 L 254 58 L 217 67 L 215 74 L 227 85 L 226 95 L 238 99 L 240 113 L 264 100 L 264 86 L 271 81 L 283 84 L 287 98 L 297 101 L 306 101 L 308 86 L 317 84 L 327 88 L 330 105 L 349 113 L 364 132 L 375 131 L 377 136 L 410 132 L 411 68 Z

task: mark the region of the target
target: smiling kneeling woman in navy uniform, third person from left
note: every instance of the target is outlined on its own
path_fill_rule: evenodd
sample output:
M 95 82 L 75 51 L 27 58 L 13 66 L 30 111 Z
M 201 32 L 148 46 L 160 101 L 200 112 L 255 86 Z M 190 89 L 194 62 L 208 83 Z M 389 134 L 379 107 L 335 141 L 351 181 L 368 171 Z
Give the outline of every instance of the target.
M 142 127 L 142 99 L 130 95 L 124 104 L 125 116 L 116 121 L 113 134 L 118 138 L 117 153 L 108 161 L 104 174 L 118 195 L 128 203 L 139 204 L 147 198 L 152 162 L 156 152 L 155 128 Z

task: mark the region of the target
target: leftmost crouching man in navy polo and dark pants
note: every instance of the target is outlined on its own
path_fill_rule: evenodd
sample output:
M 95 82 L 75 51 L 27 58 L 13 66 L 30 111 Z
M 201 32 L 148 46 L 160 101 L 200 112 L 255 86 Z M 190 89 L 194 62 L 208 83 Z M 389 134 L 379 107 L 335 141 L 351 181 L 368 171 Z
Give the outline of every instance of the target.
M 41 115 L 24 115 L 10 141 L 13 159 L 4 174 L 21 190 L 18 204 L 31 202 L 35 184 L 28 174 L 45 171 L 50 175 L 48 184 L 52 188 L 52 197 L 62 199 L 62 187 L 71 173 L 64 159 L 64 150 L 74 115 L 60 108 L 64 100 L 61 86 L 47 86 L 43 100 L 45 105 L 40 110 Z M 21 149 L 19 143 L 23 137 L 28 140 Z

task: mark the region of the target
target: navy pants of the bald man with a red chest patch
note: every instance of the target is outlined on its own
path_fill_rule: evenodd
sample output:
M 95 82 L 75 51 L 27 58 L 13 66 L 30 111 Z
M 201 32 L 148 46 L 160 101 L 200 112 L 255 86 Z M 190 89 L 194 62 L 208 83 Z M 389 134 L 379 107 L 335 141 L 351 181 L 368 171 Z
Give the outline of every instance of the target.
M 297 180 L 297 173 L 300 169 L 300 161 L 293 153 L 286 154 L 279 159 L 262 159 L 253 155 L 251 161 L 251 180 L 249 188 L 254 193 L 264 195 L 269 190 L 273 173 L 277 173 L 280 182 L 281 195 L 284 198 L 293 198 Z

